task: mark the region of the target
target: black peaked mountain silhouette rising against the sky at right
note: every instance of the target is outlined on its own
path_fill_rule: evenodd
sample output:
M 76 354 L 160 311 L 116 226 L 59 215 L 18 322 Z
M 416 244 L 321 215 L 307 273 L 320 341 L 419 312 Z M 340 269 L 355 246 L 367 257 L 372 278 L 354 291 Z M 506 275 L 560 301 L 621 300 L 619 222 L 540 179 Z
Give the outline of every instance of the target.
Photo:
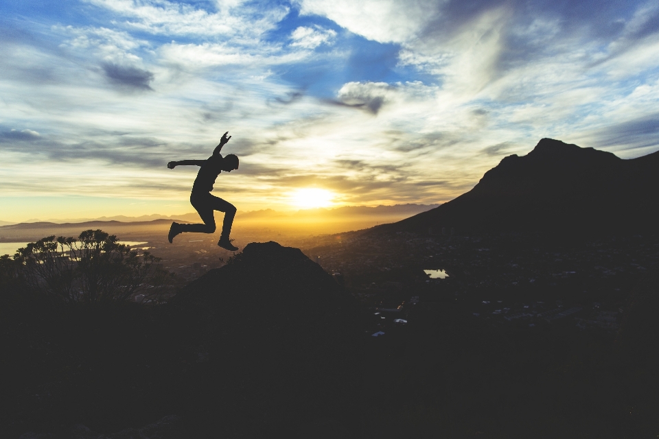
M 659 152 L 623 160 L 542 139 L 507 156 L 471 191 L 379 232 L 637 233 L 659 224 Z

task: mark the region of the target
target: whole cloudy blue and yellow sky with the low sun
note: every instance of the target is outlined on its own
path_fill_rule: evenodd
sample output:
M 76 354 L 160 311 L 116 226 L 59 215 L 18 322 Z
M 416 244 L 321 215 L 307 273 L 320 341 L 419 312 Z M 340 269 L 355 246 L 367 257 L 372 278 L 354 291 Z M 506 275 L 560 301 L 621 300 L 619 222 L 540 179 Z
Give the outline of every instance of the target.
M 544 137 L 659 150 L 659 1 L 5 0 L 0 220 L 446 202 Z

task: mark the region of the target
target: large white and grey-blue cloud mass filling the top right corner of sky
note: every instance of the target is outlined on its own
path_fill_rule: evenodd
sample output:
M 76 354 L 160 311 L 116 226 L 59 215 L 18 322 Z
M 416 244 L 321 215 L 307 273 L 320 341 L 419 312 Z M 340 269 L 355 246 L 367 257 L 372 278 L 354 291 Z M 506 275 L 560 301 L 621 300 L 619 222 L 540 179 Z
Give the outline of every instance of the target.
M 621 69 L 629 61 L 638 65 L 638 60 L 644 63 L 638 65 L 641 71 L 656 66 L 652 59 L 656 47 L 649 46 L 659 30 L 659 8 L 654 3 L 302 0 L 300 4 L 303 14 L 326 16 L 356 34 L 401 45 L 400 67 L 430 73 L 453 97 L 465 100 L 487 93 L 489 87 L 500 88 L 509 78 L 519 80 L 520 70 L 529 84 L 524 92 L 531 91 L 532 96 L 544 91 L 549 72 L 568 69 L 568 76 L 577 78 L 588 73 L 593 62 L 620 56 L 639 44 L 646 46 L 644 53 L 630 56 Z M 543 68 L 533 69 L 534 64 Z M 533 80 L 537 72 L 540 80 Z M 566 75 L 551 80 L 564 83 Z

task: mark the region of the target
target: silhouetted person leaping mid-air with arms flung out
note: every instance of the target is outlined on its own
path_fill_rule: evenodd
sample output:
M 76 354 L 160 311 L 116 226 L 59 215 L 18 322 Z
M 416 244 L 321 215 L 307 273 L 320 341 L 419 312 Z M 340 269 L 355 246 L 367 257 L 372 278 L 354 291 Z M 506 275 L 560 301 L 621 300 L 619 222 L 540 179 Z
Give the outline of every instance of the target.
M 224 212 L 224 222 L 222 222 L 222 235 L 220 235 L 218 246 L 233 252 L 238 250 L 238 247 L 233 246 L 231 239 L 229 239 L 231 224 L 233 224 L 233 217 L 235 216 L 235 207 L 230 202 L 211 195 L 213 184 L 216 178 L 218 178 L 218 175 L 220 175 L 220 172 L 231 172 L 233 169 L 238 169 L 237 156 L 229 154 L 226 157 L 222 157 L 222 154 L 220 154 L 222 147 L 231 139 L 231 136 L 227 137 L 227 134 L 229 134 L 228 131 L 220 139 L 220 144 L 216 146 L 213 155 L 206 160 L 182 160 L 167 163 L 167 167 L 170 169 L 174 169 L 178 165 L 194 165 L 200 167 L 197 178 L 195 178 L 192 185 L 190 204 L 192 204 L 204 222 L 204 224 L 178 224 L 177 222 L 172 222 L 170 233 L 167 235 L 167 239 L 170 242 L 172 242 L 172 239 L 176 235 L 183 232 L 214 233 L 216 226 L 213 211 L 220 211 Z

